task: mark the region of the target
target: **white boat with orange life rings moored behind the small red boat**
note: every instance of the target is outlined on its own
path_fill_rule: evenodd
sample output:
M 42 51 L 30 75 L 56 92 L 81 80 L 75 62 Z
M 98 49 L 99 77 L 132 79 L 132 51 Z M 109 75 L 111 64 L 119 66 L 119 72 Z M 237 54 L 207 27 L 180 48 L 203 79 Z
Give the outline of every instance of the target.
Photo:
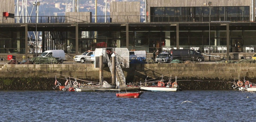
M 177 80 L 171 83 L 170 78 L 166 86 L 164 85 L 163 81 L 163 79 L 159 80 L 157 86 L 140 86 L 139 88 L 144 91 L 177 91 L 177 89 L 179 88 Z

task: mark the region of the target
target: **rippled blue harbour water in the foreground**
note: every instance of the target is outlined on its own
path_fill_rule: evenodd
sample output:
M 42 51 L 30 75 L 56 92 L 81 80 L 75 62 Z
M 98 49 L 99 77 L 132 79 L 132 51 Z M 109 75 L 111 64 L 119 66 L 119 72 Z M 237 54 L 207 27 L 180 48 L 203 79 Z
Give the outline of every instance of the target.
M 138 99 L 115 92 L 0 91 L 0 121 L 247 122 L 256 121 L 255 98 L 255 92 L 232 90 L 144 92 Z

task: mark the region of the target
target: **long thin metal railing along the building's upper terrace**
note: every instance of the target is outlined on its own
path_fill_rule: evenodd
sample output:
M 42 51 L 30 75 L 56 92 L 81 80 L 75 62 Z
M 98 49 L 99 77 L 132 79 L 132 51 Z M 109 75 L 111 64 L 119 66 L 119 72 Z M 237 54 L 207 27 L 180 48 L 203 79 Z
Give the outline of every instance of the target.
M 251 15 L 210 15 L 211 22 L 250 22 Z M 255 16 L 255 15 L 254 15 Z M 7 23 L 0 17 L 0 23 Z M 209 15 L 142 15 L 119 16 L 14 16 L 15 23 L 143 23 L 143 22 L 209 22 Z M 10 19 L 10 18 L 9 18 Z M 96 21 L 95 21 L 96 20 Z

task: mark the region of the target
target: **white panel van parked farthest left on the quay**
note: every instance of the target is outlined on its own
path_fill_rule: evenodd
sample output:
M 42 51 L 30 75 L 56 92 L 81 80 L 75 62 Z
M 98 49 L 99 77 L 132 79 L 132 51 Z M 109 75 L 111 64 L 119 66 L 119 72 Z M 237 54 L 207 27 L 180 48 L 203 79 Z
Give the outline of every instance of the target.
M 47 56 L 53 56 L 55 58 L 58 58 L 59 60 L 65 60 L 65 52 L 64 50 L 48 50 L 41 53 L 38 57 L 47 57 Z

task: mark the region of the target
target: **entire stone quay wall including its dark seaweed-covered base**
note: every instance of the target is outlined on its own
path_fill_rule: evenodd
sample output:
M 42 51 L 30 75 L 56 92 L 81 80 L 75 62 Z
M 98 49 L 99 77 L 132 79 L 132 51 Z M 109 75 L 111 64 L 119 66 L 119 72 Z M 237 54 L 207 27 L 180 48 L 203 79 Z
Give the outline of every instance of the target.
M 146 76 L 150 80 L 160 79 L 162 75 L 167 79 L 172 75 L 178 77 L 184 90 L 225 90 L 230 89 L 238 76 L 240 79 L 245 76 L 246 80 L 255 83 L 255 67 L 256 64 L 131 64 L 123 71 L 126 83 L 144 82 Z M 93 64 L 5 64 L 0 68 L 0 90 L 51 90 L 55 74 L 98 81 L 99 68 L 94 68 Z M 103 68 L 103 76 L 104 80 L 111 82 L 108 67 Z M 58 80 L 62 84 L 65 82 L 65 79 Z

